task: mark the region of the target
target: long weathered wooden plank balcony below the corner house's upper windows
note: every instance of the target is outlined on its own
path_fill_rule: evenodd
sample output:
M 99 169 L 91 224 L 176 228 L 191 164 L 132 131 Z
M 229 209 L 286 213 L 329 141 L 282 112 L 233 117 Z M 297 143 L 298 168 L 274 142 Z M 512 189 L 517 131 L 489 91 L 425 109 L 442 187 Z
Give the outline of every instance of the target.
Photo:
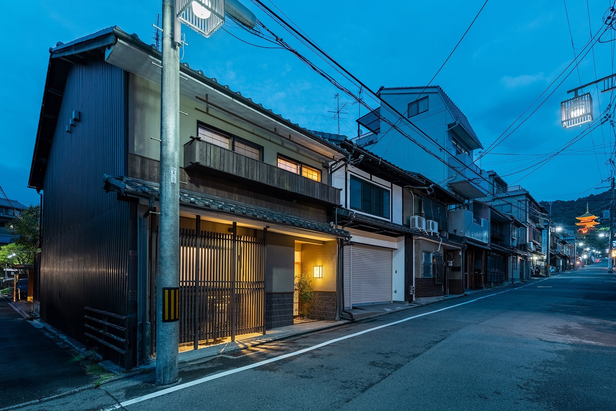
M 340 204 L 338 188 L 201 141 L 199 138 L 193 137 L 184 145 L 184 169 L 188 172 L 217 175 L 256 189 L 282 194 L 286 198 Z

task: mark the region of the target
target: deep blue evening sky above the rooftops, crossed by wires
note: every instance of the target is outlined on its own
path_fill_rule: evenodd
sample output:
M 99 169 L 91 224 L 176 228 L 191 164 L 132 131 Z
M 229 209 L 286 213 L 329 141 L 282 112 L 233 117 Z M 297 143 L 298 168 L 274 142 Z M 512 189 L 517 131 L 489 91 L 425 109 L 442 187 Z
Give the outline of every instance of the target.
M 483 2 L 276 0 L 275 4 L 317 44 L 376 90 L 380 86 L 424 86 Z M 325 67 L 322 60 L 307 54 L 277 23 L 257 13 L 249 0 L 244 0 L 244 4 L 278 36 Z M 57 41 L 68 42 L 112 25 L 151 42 L 152 23 L 160 5 L 160 1 L 143 0 L 31 0 L 4 5 L 0 21 L 10 38 L 4 43 L 0 68 L 3 79 L 0 185 L 9 198 L 38 202 L 36 192 L 26 185 L 49 47 Z M 607 0 L 589 0 L 588 5 L 595 33 L 601 28 L 602 16 L 610 4 Z M 586 1 L 567 1 L 567 11 L 574 45 L 583 47 L 590 39 Z M 224 27 L 246 41 L 272 46 L 232 25 Z M 188 29 L 185 33 L 188 46 L 183 61 L 193 68 L 203 70 L 207 76 L 229 84 L 231 89 L 304 127 L 337 131 L 336 122 L 326 115 L 335 108 L 333 96 L 338 90 L 290 52 L 249 46 L 224 30 L 209 39 Z M 604 39 L 612 38 L 612 33 L 606 33 Z M 582 84 L 614 73 L 613 44 L 596 44 L 594 62 L 592 52 L 586 55 L 579 65 Z M 561 1 L 489 0 L 433 84 L 442 86 L 461 108 L 487 147 L 572 59 Z M 582 130 L 583 127 L 564 130 L 560 124 L 560 101 L 568 98 L 566 90 L 580 85 L 580 78 L 577 70 L 573 71 L 524 125 L 493 150 L 522 155 L 490 154 L 480 165 L 501 175 L 517 172 L 505 180 L 525 186 L 539 200 L 572 199 L 595 193 L 593 186 L 603 186 L 601 179 L 609 177 L 605 162 L 614 139 L 609 124 L 582 138 L 565 155 L 557 156 L 524 177 L 543 155 Z M 588 91 L 594 93 L 594 113 L 598 116 L 598 107 L 606 108 L 610 93 L 598 94 L 594 87 Z M 341 102 L 351 102 L 351 98 L 341 95 Z M 341 121 L 342 134 L 351 137 L 356 134 L 356 118 L 357 105 L 352 105 L 346 120 Z

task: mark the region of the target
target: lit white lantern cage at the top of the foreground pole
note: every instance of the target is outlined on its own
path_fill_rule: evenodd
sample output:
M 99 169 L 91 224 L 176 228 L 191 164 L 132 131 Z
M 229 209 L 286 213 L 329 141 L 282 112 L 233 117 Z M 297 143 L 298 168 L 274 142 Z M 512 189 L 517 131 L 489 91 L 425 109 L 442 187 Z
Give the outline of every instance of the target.
M 225 22 L 224 0 L 176 0 L 177 20 L 205 37 Z

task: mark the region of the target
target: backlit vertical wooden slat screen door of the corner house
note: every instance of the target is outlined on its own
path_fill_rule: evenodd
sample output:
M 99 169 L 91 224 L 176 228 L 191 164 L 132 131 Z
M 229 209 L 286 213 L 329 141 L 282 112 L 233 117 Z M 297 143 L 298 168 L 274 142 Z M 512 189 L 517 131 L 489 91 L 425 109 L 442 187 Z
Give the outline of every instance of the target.
M 233 323 L 236 335 L 262 332 L 265 243 L 249 236 L 236 236 L 235 242 L 233 247 L 228 233 L 180 230 L 180 345 L 195 343 L 195 335 L 205 343 L 230 337 Z

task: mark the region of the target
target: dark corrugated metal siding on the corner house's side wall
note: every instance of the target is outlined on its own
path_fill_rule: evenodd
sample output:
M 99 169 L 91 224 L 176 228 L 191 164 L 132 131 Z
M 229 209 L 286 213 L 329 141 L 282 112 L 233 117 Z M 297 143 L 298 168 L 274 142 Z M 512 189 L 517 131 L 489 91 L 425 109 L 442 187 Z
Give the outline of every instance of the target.
M 128 314 L 130 205 L 102 189 L 126 169 L 126 82 L 102 60 L 71 66 L 44 180 L 41 317 L 82 342 L 84 307 Z

